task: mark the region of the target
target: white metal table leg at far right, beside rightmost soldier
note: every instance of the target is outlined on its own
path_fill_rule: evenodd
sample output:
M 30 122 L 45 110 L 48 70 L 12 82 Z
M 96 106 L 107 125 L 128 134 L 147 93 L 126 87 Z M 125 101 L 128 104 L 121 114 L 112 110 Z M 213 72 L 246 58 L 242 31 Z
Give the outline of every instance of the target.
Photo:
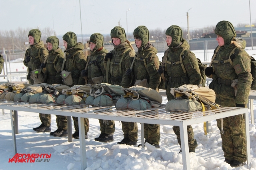
M 252 105 L 251 105 L 252 106 Z M 249 113 L 244 114 L 245 119 L 245 136 L 246 136 L 246 155 L 247 155 L 247 168 L 251 168 L 251 151 L 250 151 L 250 134 L 249 134 Z

